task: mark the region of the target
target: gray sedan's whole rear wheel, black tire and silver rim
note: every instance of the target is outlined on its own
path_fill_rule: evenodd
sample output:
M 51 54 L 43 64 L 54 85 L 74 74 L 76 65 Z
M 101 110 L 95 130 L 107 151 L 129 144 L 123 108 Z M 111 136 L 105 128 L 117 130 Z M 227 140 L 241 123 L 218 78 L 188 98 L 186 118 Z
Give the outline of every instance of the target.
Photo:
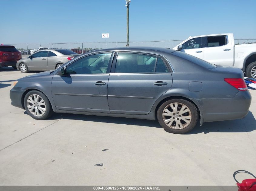
M 164 102 L 157 110 L 160 125 L 169 133 L 184 134 L 197 124 L 197 108 L 191 102 L 173 99 Z

